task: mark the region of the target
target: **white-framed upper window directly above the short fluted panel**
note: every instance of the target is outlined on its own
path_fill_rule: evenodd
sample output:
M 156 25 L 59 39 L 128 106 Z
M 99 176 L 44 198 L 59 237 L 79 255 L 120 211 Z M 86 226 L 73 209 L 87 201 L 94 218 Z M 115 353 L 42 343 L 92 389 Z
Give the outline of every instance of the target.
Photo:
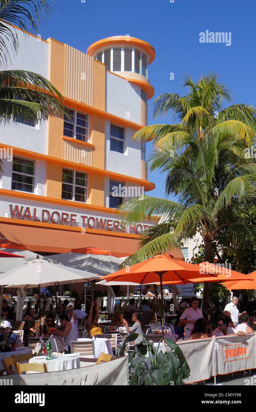
M 63 136 L 72 137 L 83 142 L 88 141 L 88 115 L 67 109 L 70 119 L 64 115 Z

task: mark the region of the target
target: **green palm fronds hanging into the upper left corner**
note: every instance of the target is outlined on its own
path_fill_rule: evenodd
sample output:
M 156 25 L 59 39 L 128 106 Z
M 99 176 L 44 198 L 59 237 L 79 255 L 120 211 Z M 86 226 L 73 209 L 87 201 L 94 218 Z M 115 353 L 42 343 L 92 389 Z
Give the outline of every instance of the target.
M 11 52 L 18 53 L 15 24 L 37 33 L 40 21 L 53 10 L 45 0 L 0 0 L 0 66 L 6 68 Z M 9 24 L 7 24 L 9 23 Z M 23 70 L 0 71 L 0 123 L 41 122 L 47 117 L 67 116 L 60 92 L 43 76 Z M 2 167 L 0 163 L 0 176 Z

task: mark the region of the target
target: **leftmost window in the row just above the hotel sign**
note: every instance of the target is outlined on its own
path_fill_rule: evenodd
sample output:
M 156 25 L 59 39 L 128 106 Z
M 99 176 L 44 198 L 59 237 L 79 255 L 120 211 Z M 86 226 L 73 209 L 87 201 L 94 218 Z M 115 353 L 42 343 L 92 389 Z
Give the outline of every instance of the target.
M 35 162 L 14 157 L 12 162 L 12 190 L 34 193 Z

